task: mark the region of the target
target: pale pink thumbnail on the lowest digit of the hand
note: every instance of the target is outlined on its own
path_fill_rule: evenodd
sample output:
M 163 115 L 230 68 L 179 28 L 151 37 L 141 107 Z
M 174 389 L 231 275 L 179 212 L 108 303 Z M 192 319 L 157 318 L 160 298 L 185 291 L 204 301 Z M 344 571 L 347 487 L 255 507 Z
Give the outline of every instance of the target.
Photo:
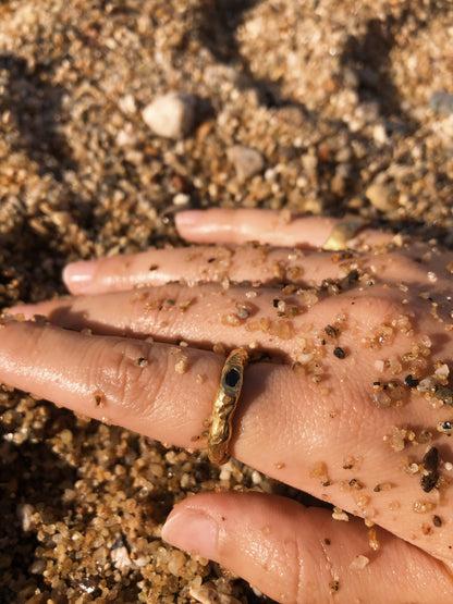
M 164 541 L 204 558 L 216 558 L 218 538 L 217 522 L 199 509 L 176 508 L 162 527 Z

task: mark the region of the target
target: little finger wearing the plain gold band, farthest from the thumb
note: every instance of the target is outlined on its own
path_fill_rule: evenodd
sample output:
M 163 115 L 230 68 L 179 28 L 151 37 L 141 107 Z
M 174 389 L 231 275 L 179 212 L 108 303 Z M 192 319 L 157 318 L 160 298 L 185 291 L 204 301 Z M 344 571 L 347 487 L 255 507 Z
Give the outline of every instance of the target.
M 338 219 L 292 217 L 273 210 L 217 209 L 189 210 L 175 217 L 180 235 L 193 243 L 244 244 L 258 242 L 272 246 L 319 249 L 328 241 Z M 391 235 L 371 229 L 360 231 L 367 245 L 388 242 Z

